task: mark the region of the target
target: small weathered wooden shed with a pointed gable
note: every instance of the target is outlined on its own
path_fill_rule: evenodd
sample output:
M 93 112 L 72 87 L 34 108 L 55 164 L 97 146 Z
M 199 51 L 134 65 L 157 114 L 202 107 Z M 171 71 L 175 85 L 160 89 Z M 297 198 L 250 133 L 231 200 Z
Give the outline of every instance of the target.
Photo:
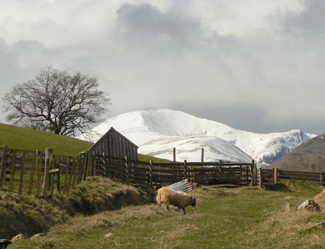
M 103 154 L 112 158 L 127 157 L 128 160 L 138 161 L 138 146 L 128 140 L 113 127 L 109 129 L 89 151 L 95 154 Z

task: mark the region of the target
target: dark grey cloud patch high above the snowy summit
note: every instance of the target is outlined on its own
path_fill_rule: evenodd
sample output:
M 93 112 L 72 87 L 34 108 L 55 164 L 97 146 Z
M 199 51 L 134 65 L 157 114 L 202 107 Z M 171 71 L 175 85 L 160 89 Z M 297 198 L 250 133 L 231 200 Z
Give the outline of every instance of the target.
M 179 12 L 162 13 L 148 4 L 124 4 L 117 14 L 117 28 L 129 45 L 156 52 L 180 52 L 202 38 L 200 22 Z

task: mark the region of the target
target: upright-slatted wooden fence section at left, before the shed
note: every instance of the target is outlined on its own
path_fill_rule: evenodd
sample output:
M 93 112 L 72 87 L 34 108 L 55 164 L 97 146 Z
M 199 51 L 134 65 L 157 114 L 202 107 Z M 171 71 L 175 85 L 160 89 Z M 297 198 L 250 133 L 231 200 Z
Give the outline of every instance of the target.
M 86 152 L 70 157 L 55 155 L 51 149 L 43 152 L 4 146 L 0 149 L 0 190 L 44 198 L 61 191 L 67 193 L 86 176 L 94 175 L 91 162 L 85 163 L 89 158 L 92 160 Z

